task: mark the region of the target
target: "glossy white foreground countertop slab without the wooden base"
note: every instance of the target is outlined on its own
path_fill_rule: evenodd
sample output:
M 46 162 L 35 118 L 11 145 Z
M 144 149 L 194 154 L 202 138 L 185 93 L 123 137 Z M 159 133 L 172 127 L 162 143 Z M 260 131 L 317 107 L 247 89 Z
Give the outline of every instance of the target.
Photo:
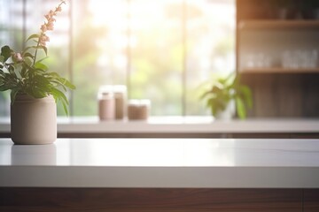
M 0 186 L 319 188 L 319 140 L 0 139 Z

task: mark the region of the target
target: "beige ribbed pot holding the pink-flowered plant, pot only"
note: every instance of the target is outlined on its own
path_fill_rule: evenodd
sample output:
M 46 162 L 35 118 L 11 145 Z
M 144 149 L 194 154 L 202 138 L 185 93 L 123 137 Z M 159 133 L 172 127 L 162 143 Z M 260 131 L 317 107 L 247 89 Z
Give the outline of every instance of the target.
M 57 140 L 54 98 L 17 95 L 11 106 L 11 134 L 15 144 L 50 144 Z

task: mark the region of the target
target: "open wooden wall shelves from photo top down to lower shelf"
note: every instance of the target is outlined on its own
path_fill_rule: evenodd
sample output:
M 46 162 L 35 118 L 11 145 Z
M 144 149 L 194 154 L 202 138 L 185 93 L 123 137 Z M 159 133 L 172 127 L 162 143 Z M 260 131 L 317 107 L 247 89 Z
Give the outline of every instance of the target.
M 319 72 L 319 0 L 237 0 L 237 70 Z

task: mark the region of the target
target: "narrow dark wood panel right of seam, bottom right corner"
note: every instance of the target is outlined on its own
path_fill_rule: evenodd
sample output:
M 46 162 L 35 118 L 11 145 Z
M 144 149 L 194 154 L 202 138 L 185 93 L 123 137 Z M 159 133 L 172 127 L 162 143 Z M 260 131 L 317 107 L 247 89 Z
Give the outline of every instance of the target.
M 304 212 L 319 211 L 319 189 L 304 190 Z

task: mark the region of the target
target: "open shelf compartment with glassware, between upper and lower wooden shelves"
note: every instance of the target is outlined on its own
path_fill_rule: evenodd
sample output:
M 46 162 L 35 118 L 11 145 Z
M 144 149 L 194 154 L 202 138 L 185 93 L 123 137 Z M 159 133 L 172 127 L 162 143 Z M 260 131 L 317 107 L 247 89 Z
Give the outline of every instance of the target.
M 238 71 L 319 72 L 318 20 L 240 20 Z

